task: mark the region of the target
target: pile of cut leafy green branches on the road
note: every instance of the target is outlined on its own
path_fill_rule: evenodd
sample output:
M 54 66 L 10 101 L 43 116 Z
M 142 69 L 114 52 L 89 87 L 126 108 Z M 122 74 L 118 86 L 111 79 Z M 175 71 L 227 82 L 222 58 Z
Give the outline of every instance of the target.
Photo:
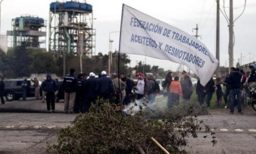
M 144 104 L 143 104 L 144 105 Z M 140 106 L 143 108 L 143 106 Z M 79 114 L 72 127 L 58 132 L 55 144 L 47 143 L 47 153 L 91 153 L 91 154 L 156 154 L 163 151 L 152 142 L 155 138 L 169 153 L 186 153 L 187 138 L 197 138 L 203 131 L 216 144 L 215 133 L 203 121 L 192 115 L 173 114 L 159 118 L 148 118 L 145 112 L 124 115 L 117 106 L 107 100 L 99 100 L 87 114 Z

